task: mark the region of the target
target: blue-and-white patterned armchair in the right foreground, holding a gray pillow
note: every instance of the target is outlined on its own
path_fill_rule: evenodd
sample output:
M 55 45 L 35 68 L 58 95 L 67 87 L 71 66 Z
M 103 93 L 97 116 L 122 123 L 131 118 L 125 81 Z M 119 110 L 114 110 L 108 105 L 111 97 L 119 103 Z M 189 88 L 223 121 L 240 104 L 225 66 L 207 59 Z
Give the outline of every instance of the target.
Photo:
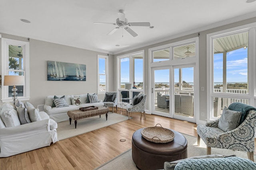
M 248 158 L 254 161 L 253 153 L 254 133 L 256 126 L 256 111 L 252 109 L 248 110 L 248 115 L 246 116 L 244 121 L 232 131 L 222 131 L 218 128 L 218 122 L 219 119 L 208 122 L 205 126 L 197 126 L 197 145 L 200 145 L 200 138 L 202 138 L 207 146 L 207 154 L 211 154 L 211 147 L 240 150 L 246 151 L 248 154 Z

